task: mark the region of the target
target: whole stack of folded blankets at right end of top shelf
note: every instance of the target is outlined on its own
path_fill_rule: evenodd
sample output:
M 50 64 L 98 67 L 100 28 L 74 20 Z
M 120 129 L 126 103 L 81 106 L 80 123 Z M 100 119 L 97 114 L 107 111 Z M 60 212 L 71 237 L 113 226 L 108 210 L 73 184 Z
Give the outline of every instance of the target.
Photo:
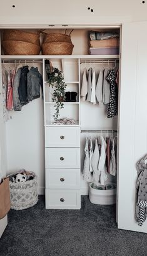
M 119 54 L 119 34 L 112 31 L 89 31 L 89 54 Z

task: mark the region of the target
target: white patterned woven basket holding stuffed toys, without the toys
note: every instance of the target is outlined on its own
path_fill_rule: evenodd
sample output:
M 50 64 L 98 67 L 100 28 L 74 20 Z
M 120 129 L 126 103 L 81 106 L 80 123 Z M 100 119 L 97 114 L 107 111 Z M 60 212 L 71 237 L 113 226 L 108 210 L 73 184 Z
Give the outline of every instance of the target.
M 38 202 L 37 177 L 33 172 L 30 172 L 30 174 L 34 176 L 33 180 L 23 183 L 9 182 L 11 208 L 14 210 L 33 207 Z

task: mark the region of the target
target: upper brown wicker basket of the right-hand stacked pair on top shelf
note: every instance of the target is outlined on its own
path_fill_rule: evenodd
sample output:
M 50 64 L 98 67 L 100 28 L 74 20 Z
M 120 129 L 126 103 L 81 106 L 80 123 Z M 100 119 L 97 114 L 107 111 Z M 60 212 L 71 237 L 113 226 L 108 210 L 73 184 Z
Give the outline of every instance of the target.
M 44 36 L 43 43 L 51 43 L 51 42 L 68 42 L 71 43 L 71 37 L 67 34 L 61 33 L 49 33 Z

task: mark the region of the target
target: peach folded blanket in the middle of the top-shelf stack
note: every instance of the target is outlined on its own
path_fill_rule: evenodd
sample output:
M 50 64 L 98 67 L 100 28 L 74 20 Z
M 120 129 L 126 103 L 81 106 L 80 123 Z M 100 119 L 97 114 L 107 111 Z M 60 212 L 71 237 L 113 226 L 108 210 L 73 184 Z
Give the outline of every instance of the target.
M 92 40 L 90 41 L 90 47 L 94 47 L 94 48 L 119 47 L 119 38 L 111 38 L 107 40 Z

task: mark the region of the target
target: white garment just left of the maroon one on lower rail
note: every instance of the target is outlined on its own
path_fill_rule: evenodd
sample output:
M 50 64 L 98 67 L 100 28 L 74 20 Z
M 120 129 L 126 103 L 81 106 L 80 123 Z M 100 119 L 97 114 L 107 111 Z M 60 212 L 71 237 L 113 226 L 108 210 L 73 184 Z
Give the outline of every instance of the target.
M 101 153 L 99 158 L 98 170 L 100 174 L 100 183 L 104 185 L 106 180 L 108 180 L 108 175 L 105 172 L 105 163 L 106 163 L 106 142 L 104 141 L 103 136 L 99 136 L 99 144 L 101 145 Z

